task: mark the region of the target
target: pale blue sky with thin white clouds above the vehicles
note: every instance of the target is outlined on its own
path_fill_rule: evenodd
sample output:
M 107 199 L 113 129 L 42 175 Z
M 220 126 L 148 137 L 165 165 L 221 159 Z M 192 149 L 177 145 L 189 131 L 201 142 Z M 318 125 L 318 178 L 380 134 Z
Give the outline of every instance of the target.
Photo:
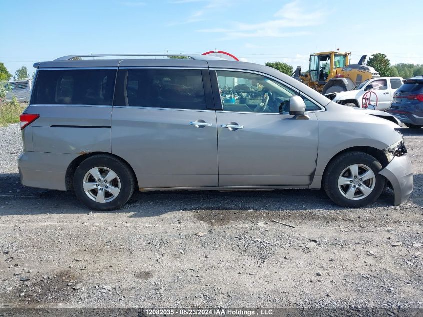
M 71 54 L 201 54 L 308 69 L 309 55 L 385 53 L 423 64 L 423 1 L 0 0 L 0 62 L 11 74 Z

